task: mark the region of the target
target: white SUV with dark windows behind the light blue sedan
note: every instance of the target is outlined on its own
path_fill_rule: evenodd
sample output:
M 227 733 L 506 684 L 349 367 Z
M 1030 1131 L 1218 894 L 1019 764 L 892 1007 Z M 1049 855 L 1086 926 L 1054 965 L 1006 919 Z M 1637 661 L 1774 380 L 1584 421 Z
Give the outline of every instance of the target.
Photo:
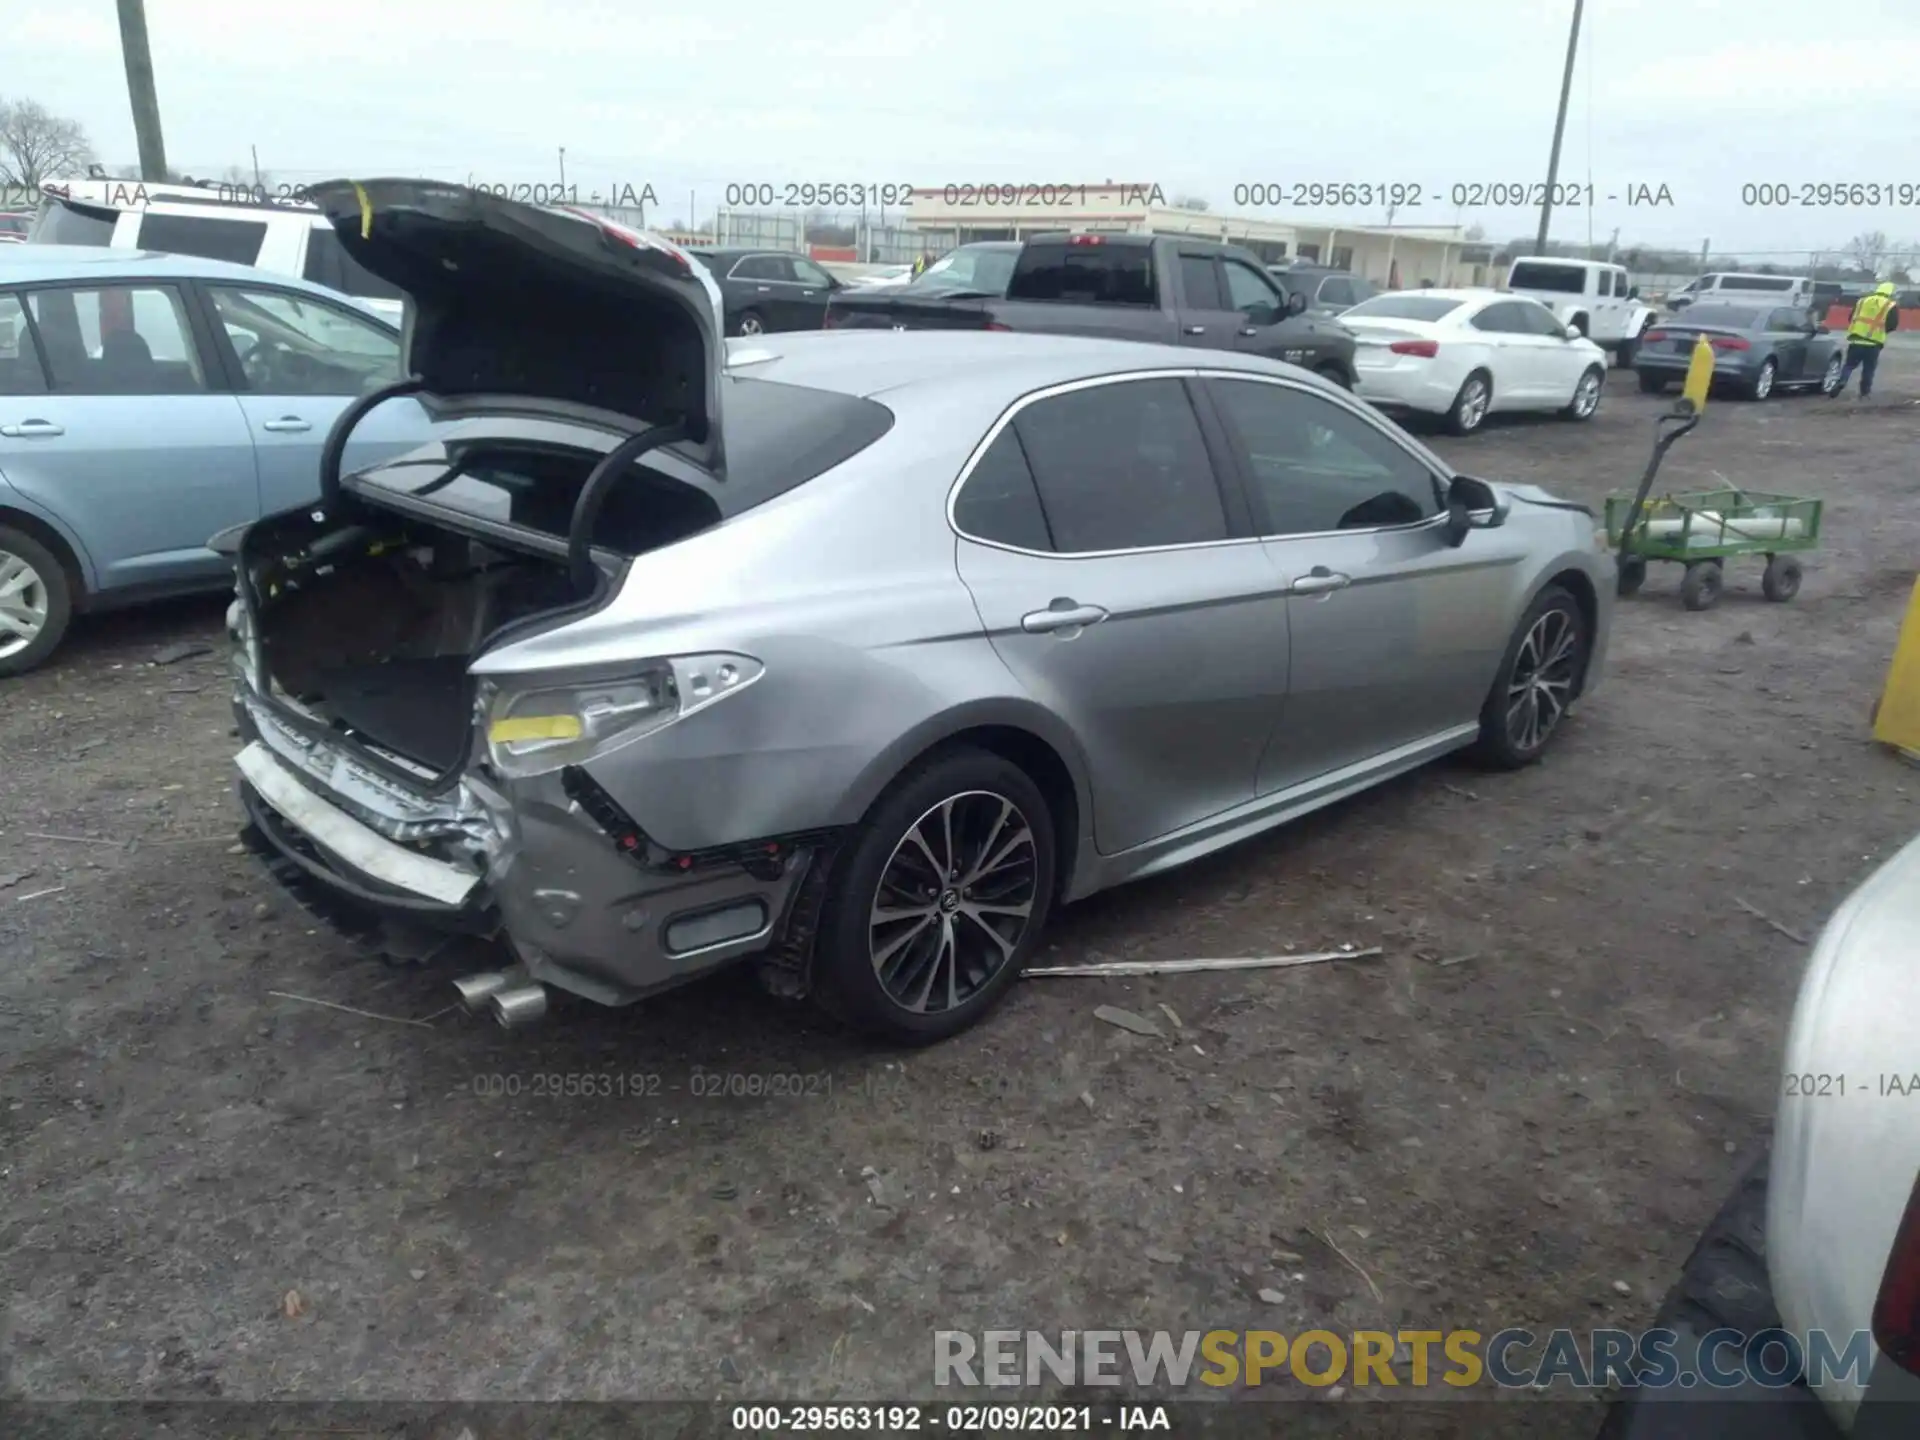
M 234 200 L 227 190 L 190 184 L 54 180 L 42 186 L 27 238 L 159 250 L 296 275 L 401 323 L 399 290 L 348 255 L 321 211 L 301 202 Z

